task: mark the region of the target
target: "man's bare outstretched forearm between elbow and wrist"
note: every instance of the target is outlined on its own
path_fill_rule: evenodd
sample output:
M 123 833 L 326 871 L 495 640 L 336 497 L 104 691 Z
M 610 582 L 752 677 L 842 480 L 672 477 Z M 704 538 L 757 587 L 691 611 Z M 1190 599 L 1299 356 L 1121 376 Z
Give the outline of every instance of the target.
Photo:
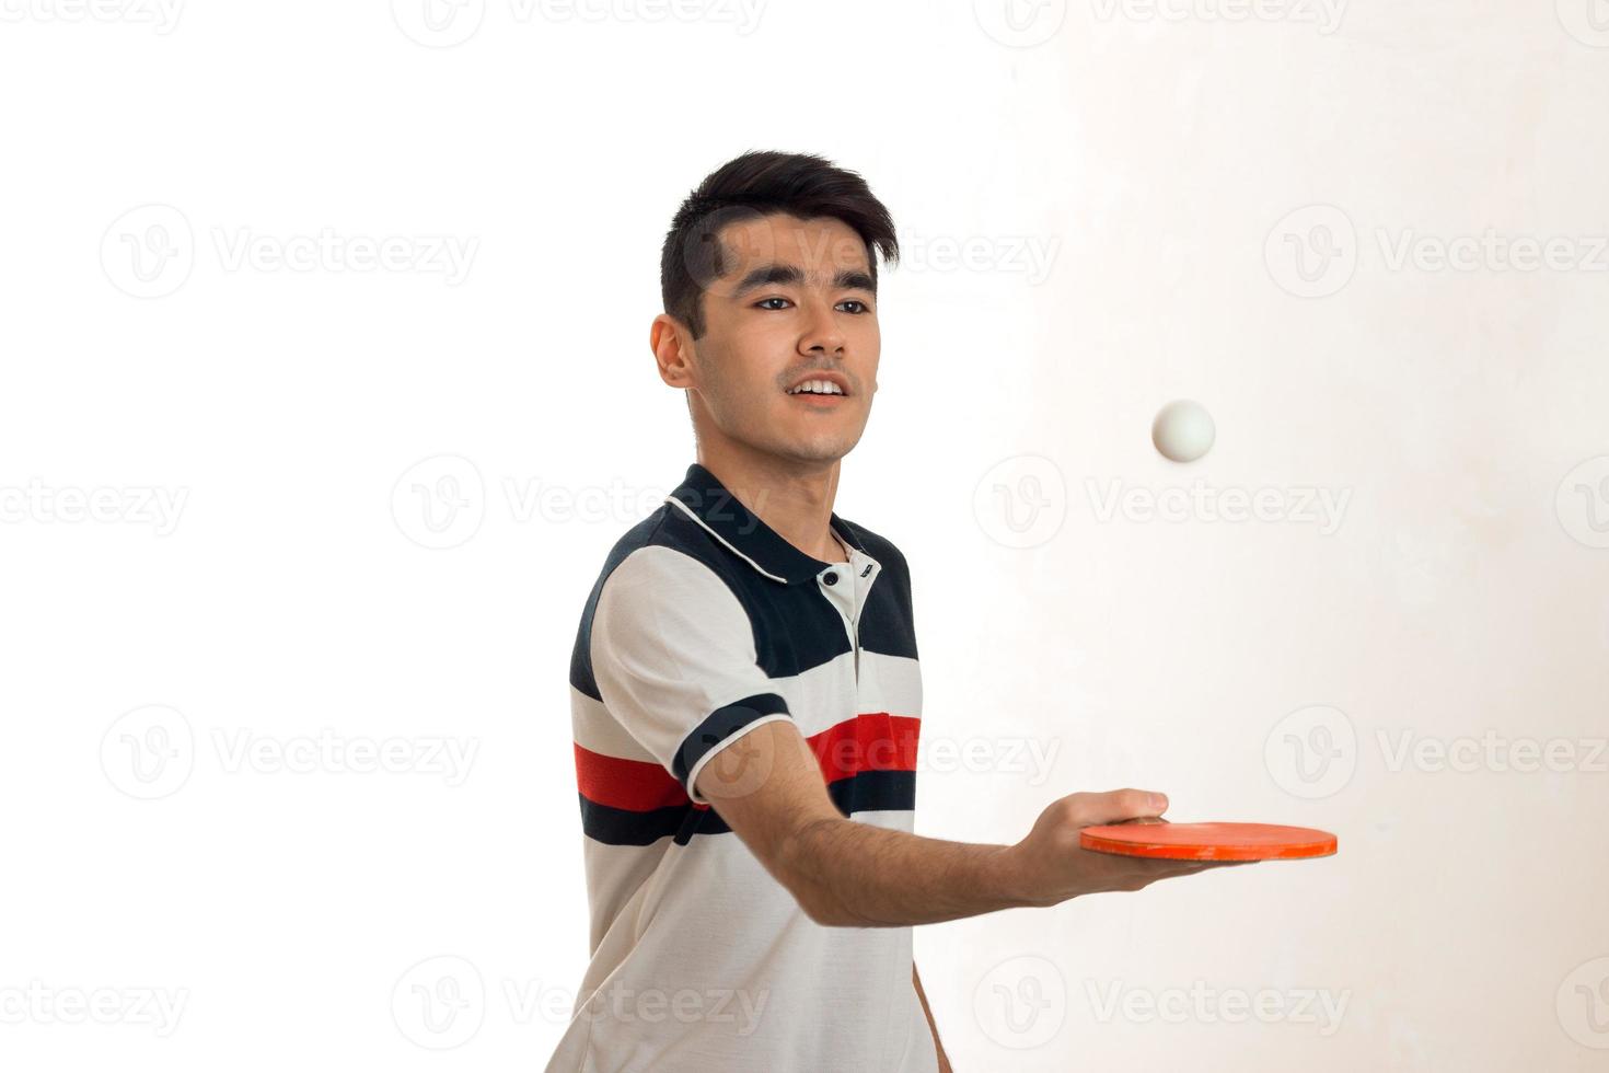
M 788 840 L 788 886 L 817 923 L 907 927 L 1038 904 L 1010 846 L 821 819 Z

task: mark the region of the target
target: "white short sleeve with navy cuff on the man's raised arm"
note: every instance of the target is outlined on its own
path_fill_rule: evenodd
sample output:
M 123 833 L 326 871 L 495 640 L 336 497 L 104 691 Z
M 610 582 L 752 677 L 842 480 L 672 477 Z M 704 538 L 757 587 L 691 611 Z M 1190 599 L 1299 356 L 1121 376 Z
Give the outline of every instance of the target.
M 755 727 L 792 717 L 737 595 L 669 547 L 637 549 L 603 581 L 591 656 L 603 706 L 698 804 L 708 804 L 693 791 L 706 763 Z

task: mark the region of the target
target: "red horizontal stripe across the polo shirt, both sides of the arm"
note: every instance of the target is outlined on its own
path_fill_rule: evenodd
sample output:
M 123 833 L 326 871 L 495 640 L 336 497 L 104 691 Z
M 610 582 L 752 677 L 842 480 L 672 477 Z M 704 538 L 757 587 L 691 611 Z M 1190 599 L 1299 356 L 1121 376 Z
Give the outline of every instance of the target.
M 804 738 L 827 782 L 862 771 L 916 771 L 922 721 L 872 711 Z M 689 804 L 687 791 L 653 761 L 605 756 L 576 743 L 576 785 L 594 804 L 632 812 Z M 708 808 L 705 804 L 693 808 Z

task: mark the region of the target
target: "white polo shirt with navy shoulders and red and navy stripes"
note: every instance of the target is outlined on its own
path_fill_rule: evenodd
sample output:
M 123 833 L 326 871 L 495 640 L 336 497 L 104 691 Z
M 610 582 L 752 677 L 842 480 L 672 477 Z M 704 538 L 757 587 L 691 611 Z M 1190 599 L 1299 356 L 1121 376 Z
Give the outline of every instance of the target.
M 592 960 L 550 1073 L 936 1071 L 911 928 L 817 925 L 693 791 L 790 719 L 840 812 L 911 830 L 911 576 L 883 537 L 830 526 L 835 563 L 693 463 L 605 558 L 570 663 Z

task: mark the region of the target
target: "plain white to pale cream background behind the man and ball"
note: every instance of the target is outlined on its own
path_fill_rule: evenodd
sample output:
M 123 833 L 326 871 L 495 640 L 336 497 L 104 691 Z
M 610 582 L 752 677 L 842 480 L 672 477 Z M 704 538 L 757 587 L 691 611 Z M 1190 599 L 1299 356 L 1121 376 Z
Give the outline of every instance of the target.
M 906 245 L 837 508 L 919 830 L 1340 837 L 917 930 L 956 1068 L 1609 1062 L 1601 2 L 434 11 L 0 2 L 0 1065 L 545 1063 L 574 629 L 692 460 L 660 240 L 748 148 Z

